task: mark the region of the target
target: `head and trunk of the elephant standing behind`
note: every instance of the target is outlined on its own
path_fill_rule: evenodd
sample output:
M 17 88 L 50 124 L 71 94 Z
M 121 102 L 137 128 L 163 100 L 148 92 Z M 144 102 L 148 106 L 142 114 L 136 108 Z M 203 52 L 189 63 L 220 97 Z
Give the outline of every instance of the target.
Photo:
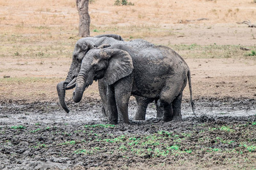
M 69 109 L 65 103 L 65 90 L 69 90 L 75 87 L 76 77 L 79 74 L 82 59 L 90 49 L 94 48 L 96 48 L 94 42 L 86 38 L 77 41 L 73 51 L 72 63 L 67 78 L 64 82 L 57 84 L 57 94 L 59 96 L 60 105 L 67 113 L 69 112 Z

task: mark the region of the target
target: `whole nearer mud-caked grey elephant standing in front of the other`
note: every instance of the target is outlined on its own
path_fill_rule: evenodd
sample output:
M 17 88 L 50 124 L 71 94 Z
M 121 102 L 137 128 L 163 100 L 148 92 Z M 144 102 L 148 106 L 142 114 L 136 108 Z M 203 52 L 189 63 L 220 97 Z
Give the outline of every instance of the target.
M 130 95 L 160 100 L 163 120 L 181 120 L 181 99 L 191 74 L 187 63 L 174 50 L 155 46 L 144 40 L 116 42 L 109 48 L 92 49 L 82 59 L 76 79 L 73 100 L 81 100 L 85 89 L 93 80 L 105 85 L 106 106 L 110 124 L 117 124 L 118 117 L 129 123 L 128 102 Z M 143 45 L 142 45 L 143 44 Z

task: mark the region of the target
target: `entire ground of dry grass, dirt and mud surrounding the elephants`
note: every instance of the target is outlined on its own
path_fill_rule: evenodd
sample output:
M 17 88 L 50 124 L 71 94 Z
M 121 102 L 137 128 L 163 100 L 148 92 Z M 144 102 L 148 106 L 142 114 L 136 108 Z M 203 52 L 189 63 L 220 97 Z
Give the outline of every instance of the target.
M 192 73 L 197 118 L 108 125 L 97 83 L 79 104 L 57 100 L 77 37 L 75 1 L 0 0 L 0 169 L 255 169 L 256 23 L 253 0 L 90 3 L 91 35 L 117 33 L 176 50 Z M 197 20 L 205 18 L 203 20 Z M 240 47 L 249 48 L 249 51 Z

